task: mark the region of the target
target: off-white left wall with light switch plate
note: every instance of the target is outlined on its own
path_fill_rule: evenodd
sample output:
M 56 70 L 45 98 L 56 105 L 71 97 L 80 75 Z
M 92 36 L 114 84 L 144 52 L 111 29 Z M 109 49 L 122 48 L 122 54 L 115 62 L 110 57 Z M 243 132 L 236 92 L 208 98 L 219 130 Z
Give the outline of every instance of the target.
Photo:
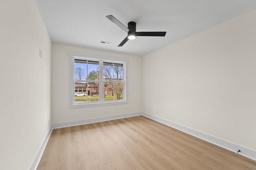
M 28 170 L 50 129 L 52 43 L 34 0 L 1 0 L 0 25 L 0 169 Z

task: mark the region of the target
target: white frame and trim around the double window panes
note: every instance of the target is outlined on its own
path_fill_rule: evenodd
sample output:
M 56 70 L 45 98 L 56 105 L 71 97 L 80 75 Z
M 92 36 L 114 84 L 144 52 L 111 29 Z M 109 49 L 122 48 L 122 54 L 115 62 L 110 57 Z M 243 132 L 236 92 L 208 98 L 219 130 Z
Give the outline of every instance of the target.
M 96 55 L 89 53 L 80 53 L 75 51 L 68 51 L 69 56 L 69 107 L 70 108 L 78 108 L 78 107 L 94 107 L 94 106 L 108 106 L 108 105 L 116 105 L 116 104 L 127 104 L 128 96 L 127 96 L 127 75 L 128 72 L 128 59 L 120 58 L 120 57 L 111 57 L 105 55 Z M 81 60 L 99 60 L 100 61 L 100 100 L 99 102 L 83 102 L 83 103 L 75 103 L 74 101 L 74 62 L 75 59 Z M 123 64 L 123 100 L 110 100 L 104 101 L 103 95 L 103 62 L 111 62 L 111 63 L 122 63 Z

